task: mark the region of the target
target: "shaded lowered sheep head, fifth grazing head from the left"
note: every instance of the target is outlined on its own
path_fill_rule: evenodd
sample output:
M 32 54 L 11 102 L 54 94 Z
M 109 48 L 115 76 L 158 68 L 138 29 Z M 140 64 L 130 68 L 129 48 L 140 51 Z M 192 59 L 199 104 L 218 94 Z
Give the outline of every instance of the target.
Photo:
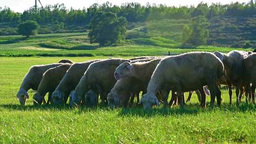
M 84 96 L 84 105 L 87 107 L 97 106 L 99 102 L 99 95 L 95 94 L 92 90 L 86 92 Z

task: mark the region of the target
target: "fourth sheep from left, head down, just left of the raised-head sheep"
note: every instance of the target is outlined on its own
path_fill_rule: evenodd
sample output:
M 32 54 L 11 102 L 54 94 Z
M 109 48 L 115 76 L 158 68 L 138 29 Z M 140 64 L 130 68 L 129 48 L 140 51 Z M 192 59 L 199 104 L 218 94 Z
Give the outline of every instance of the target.
M 70 106 L 79 105 L 82 96 L 89 90 L 89 88 L 95 92 L 99 90 L 99 87 L 101 101 L 107 103 L 107 95 L 116 82 L 113 73 L 119 64 L 124 62 L 130 62 L 130 60 L 108 59 L 91 63 L 78 85 L 75 87 L 75 90 L 70 94 Z

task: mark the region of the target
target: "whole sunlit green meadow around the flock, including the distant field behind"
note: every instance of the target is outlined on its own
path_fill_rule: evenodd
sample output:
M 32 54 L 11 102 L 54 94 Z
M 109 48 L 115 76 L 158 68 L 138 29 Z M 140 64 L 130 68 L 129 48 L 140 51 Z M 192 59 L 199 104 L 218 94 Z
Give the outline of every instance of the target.
M 227 53 L 234 48 L 186 48 L 157 37 L 134 38 L 123 45 L 99 47 L 89 43 L 86 33 L 45 34 L 28 39 L 0 36 L 0 143 L 256 143 L 256 106 L 245 102 L 238 108 L 235 104 L 229 106 L 225 88 L 221 89 L 222 106 L 210 108 L 207 103 L 205 109 L 200 108 L 195 94 L 185 108 L 160 106 L 151 111 L 139 106 L 111 110 L 101 103 L 95 108 L 35 107 L 33 90 L 29 90 L 26 106 L 19 106 L 16 98 L 24 75 L 35 64 L 56 63 L 63 58 L 82 62 L 108 57 L 166 55 L 168 51 L 181 54 L 217 50 Z M 210 102 L 209 97 L 207 101 Z

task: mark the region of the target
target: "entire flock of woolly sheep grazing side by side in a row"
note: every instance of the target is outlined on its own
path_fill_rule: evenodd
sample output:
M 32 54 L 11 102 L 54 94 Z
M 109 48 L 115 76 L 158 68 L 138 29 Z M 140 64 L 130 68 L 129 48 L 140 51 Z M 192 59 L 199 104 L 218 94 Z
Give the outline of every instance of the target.
M 256 53 L 231 51 L 192 52 L 174 56 L 144 56 L 131 59 L 110 58 L 73 63 L 35 65 L 27 72 L 18 90 L 17 98 L 25 105 L 29 89 L 37 90 L 34 105 L 51 103 L 70 106 L 96 106 L 99 101 L 110 108 L 132 106 L 134 99 L 145 109 L 185 103 L 184 92 L 196 91 L 201 107 L 205 107 L 206 93 L 210 90 L 210 105 L 215 97 L 221 104 L 219 85 L 229 87 L 229 103 L 232 103 L 232 86 L 236 88 L 237 105 L 243 93 L 246 101 L 255 103 Z M 168 104 L 168 96 L 172 98 Z M 142 91 L 142 98 L 139 93 Z M 46 102 L 45 95 L 48 93 Z

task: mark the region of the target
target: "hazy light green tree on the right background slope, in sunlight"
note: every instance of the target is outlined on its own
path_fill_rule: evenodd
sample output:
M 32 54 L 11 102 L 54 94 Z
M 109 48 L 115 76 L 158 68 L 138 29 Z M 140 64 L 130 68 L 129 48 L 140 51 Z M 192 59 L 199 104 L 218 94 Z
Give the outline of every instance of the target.
M 183 29 L 183 43 L 192 45 L 206 45 L 209 37 L 209 23 L 204 16 L 198 16 L 191 20 L 189 27 Z

